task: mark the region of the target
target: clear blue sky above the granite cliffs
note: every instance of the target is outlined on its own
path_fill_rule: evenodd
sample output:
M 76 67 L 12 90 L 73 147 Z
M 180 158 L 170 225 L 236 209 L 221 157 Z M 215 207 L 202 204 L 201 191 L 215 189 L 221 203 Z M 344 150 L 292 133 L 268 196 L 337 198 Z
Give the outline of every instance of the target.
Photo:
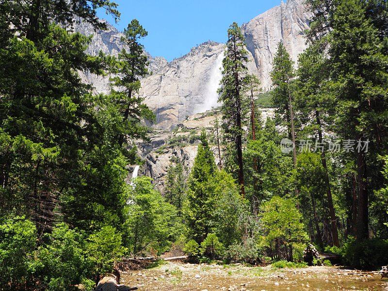
M 280 4 L 280 0 L 114 0 L 120 21 L 115 24 L 104 11 L 98 16 L 123 31 L 137 18 L 148 32 L 142 43 L 152 56 L 168 61 L 207 40 L 226 41 L 226 30 Z

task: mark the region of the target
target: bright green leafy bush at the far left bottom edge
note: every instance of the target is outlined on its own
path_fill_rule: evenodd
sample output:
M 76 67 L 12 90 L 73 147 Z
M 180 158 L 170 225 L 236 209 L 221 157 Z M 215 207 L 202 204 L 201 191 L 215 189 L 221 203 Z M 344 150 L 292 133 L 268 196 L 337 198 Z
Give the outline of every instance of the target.
M 38 266 L 34 260 L 35 225 L 25 217 L 1 221 L 0 286 L 4 290 L 24 290 Z M 0 287 L 0 290 L 2 290 Z

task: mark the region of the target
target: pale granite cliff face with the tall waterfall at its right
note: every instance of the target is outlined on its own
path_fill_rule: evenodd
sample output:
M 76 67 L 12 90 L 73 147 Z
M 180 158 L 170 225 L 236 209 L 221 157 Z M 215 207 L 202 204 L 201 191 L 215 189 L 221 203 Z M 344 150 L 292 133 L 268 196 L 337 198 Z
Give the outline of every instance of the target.
M 187 116 L 217 105 L 224 45 L 206 42 L 142 80 L 140 96 L 156 114 L 156 128 L 173 129 Z

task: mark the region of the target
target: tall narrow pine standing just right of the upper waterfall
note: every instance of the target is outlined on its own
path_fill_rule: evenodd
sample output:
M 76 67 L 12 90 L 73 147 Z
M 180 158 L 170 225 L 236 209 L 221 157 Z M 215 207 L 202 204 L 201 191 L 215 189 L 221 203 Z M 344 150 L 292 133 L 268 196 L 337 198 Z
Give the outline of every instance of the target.
M 229 153 L 229 169 L 234 172 L 234 164 L 238 167 L 238 181 L 241 195 L 245 195 L 244 174 L 242 164 L 242 98 L 243 81 L 247 73 L 247 51 L 244 49 L 244 36 L 236 22 L 230 25 L 226 42 L 223 64 L 223 77 L 219 90 L 219 100 L 222 102 L 223 129 L 226 140 L 235 147 Z

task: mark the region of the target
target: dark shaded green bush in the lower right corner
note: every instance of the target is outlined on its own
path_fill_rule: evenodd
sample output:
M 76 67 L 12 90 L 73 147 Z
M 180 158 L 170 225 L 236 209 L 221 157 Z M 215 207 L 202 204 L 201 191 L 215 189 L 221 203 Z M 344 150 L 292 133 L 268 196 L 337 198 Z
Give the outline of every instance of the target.
M 351 241 L 344 245 L 344 263 L 354 268 L 378 270 L 388 264 L 388 240 Z

